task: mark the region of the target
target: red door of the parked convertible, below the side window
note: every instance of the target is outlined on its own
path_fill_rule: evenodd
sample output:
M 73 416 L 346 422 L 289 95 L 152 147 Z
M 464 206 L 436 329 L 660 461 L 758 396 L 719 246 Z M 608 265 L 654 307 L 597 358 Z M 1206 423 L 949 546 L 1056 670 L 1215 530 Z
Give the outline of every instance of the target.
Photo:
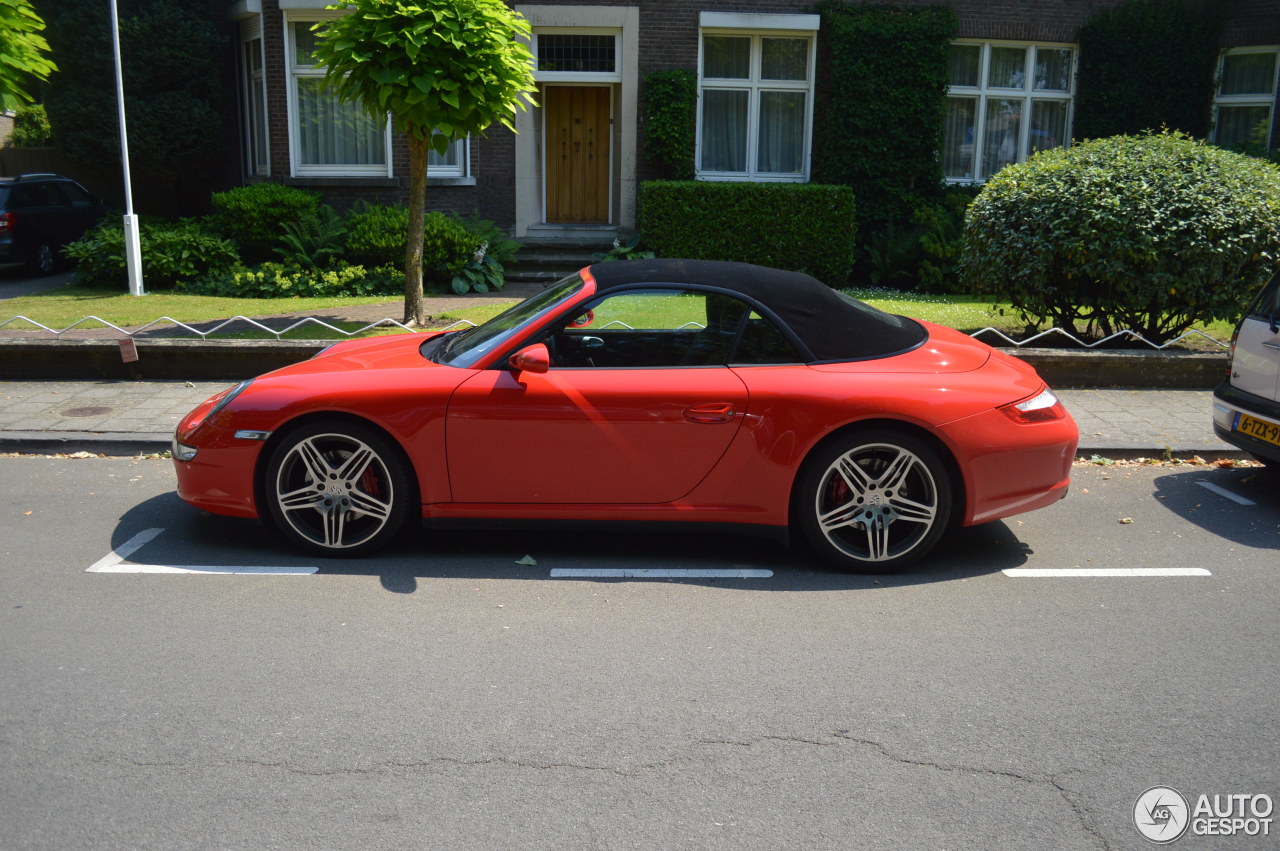
M 669 503 L 710 472 L 745 410 L 724 366 L 480 370 L 449 401 L 453 500 Z

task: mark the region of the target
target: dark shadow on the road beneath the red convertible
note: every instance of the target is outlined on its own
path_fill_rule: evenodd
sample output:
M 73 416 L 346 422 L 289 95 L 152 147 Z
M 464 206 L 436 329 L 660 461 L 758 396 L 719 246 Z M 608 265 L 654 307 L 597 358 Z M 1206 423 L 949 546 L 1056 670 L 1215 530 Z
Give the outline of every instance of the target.
M 748 535 L 703 531 L 591 530 L 438 530 L 413 529 L 375 555 L 353 559 L 315 558 L 292 549 L 256 521 L 220 517 L 193 509 L 175 494 L 140 503 L 116 525 L 118 550 L 145 529 L 163 529 L 154 540 L 128 554 L 140 564 L 315 566 L 319 573 L 374 576 L 394 594 L 412 594 L 421 580 L 550 581 L 553 568 L 680 571 L 769 571 L 768 577 L 572 577 L 603 584 L 663 581 L 751 591 L 831 591 L 901 587 L 974 578 L 1025 563 L 1029 549 L 1002 522 L 956 530 L 937 549 L 902 573 L 844 573 L 806 552 Z M 530 563 L 532 562 L 532 563 Z

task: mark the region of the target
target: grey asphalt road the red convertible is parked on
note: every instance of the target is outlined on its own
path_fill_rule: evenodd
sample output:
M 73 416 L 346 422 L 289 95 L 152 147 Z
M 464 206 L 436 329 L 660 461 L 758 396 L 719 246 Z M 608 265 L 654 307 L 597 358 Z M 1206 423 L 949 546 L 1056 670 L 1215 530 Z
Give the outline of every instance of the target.
M 179 503 L 168 461 L 0 458 L 0 485 L 5 848 L 1137 848 L 1148 787 L 1280 797 L 1256 470 L 1079 467 L 878 580 L 667 534 L 316 563 Z M 1211 575 L 1005 573 L 1116 567 Z

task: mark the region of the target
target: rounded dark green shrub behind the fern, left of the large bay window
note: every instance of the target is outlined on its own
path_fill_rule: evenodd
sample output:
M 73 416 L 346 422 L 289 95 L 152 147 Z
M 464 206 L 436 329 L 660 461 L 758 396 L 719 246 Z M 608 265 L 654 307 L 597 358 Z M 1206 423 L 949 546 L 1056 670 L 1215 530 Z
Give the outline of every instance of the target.
M 283 183 L 251 183 L 210 198 L 209 227 L 239 246 L 248 264 L 269 260 L 280 242 L 280 229 L 317 215 L 320 196 Z

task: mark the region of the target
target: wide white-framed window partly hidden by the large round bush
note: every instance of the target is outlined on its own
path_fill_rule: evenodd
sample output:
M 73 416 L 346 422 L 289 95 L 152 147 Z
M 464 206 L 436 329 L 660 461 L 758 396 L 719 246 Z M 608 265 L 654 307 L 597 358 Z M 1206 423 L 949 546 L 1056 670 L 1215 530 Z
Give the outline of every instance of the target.
M 1074 95 L 1073 45 L 952 42 L 947 180 L 986 180 L 1037 151 L 1070 145 Z

